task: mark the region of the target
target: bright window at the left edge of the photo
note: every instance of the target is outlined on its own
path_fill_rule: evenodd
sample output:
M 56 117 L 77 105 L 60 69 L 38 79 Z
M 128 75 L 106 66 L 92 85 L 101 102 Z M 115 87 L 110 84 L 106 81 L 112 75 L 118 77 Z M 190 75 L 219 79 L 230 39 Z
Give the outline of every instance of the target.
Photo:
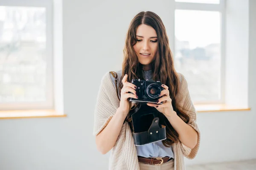
M 50 1 L 0 4 L 0 110 L 53 106 Z

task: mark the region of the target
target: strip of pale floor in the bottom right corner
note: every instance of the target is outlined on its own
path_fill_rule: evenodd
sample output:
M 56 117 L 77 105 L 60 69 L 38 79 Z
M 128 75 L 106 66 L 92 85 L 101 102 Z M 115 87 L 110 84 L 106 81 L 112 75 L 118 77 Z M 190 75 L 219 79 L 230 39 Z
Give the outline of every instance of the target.
M 190 165 L 186 170 L 256 170 L 256 159 L 215 164 Z

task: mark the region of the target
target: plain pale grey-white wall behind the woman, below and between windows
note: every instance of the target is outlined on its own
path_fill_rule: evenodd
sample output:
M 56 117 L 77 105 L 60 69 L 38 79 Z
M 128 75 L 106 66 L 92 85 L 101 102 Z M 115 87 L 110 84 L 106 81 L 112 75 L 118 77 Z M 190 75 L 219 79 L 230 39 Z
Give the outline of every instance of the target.
M 154 11 L 170 34 L 171 8 L 174 5 L 170 0 L 157 3 L 64 0 L 64 111 L 68 117 L 0 120 L 0 169 L 107 169 L 109 154 L 101 155 L 96 150 L 92 136 L 100 79 L 107 71 L 120 68 L 125 34 L 134 15 L 139 11 Z M 256 2 L 251 0 L 249 106 L 252 111 L 198 113 L 201 148 L 197 158 L 187 161 L 188 164 L 256 158 L 254 8 Z

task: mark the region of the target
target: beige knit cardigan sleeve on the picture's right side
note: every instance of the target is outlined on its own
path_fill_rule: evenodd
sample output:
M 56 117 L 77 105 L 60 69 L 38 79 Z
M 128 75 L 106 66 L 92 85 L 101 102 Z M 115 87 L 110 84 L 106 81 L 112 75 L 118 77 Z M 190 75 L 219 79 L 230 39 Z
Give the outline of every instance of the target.
M 200 131 L 199 131 L 198 125 L 196 123 L 196 111 L 195 111 L 195 107 L 194 107 L 192 100 L 190 98 L 190 95 L 189 95 L 187 81 L 182 74 L 180 74 L 180 76 L 181 76 L 181 85 L 180 85 L 180 90 L 177 95 L 177 99 L 178 99 L 177 103 L 180 106 L 181 110 L 189 116 L 189 122 L 187 124 L 190 125 L 191 127 L 193 127 L 198 133 L 198 142 L 193 149 L 186 147 L 182 143 L 180 144 L 180 146 L 181 146 L 183 155 L 186 156 L 186 158 L 194 159 L 198 153 L 198 149 L 199 149 L 199 145 L 200 145 Z

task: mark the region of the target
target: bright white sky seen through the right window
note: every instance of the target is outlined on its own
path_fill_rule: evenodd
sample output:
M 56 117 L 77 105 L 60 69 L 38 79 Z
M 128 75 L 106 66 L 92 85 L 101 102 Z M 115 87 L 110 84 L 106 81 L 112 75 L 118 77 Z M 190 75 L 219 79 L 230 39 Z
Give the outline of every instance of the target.
M 221 15 L 217 11 L 175 11 L 175 37 L 190 48 L 220 43 Z

